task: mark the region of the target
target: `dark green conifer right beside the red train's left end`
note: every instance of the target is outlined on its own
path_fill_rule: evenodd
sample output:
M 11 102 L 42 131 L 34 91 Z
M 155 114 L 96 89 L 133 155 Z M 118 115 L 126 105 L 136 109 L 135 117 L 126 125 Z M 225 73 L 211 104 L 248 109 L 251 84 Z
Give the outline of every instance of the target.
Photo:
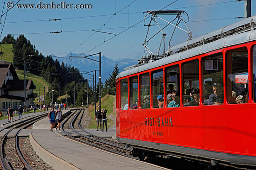
M 115 64 L 112 75 L 109 75 L 108 80 L 105 82 L 105 90 L 107 94 L 115 95 L 115 77 L 119 74 L 117 63 Z

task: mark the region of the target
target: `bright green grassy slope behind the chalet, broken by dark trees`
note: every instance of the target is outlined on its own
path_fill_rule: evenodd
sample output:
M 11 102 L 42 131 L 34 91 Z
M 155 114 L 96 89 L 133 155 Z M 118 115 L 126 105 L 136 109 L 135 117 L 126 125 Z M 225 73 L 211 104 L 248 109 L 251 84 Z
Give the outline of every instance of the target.
M 1 60 L 6 60 L 7 62 L 13 62 L 13 52 L 12 52 L 12 48 L 13 45 L 12 44 L 2 44 L 2 52 L 3 55 L 1 56 Z M 19 76 L 19 78 L 21 80 L 24 80 L 24 71 L 23 70 L 16 70 L 17 75 Z M 47 82 L 40 76 L 35 76 L 31 73 L 26 73 L 26 79 L 32 79 L 34 82 L 34 85 L 36 85 L 36 89 L 34 90 L 34 93 L 39 94 L 39 88 L 40 88 L 40 96 L 44 95 L 44 86 L 45 86 L 45 92 L 48 92 L 48 87 L 49 85 L 47 84 Z M 36 99 L 39 99 L 36 98 Z M 36 100 L 35 99 L 35 100 Z

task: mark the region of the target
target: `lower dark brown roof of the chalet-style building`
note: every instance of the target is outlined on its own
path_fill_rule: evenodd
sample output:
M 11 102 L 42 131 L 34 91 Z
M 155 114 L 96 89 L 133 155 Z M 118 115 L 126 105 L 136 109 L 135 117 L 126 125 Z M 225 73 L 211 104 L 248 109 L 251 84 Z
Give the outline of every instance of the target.
M 10 86 L 9 91 L 24 90 L 24 80 L 7 80 L 6 84 Z M 36 88 L 32 80 L 26 80 L 26 85 L 26 90 Z

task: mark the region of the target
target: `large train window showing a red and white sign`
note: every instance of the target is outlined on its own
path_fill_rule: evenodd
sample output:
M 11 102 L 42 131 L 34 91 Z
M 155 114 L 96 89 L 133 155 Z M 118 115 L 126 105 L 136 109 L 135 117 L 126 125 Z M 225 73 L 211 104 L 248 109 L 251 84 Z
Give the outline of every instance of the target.
M 246 70 L 243 70 L 243 72 L 238 72 L 239 71 L 238 69 L 235 70 L 236 73 L 235 73 L 235 71 L 233 71 L 234 70 L 233 63 L 232 63 L 233 62 L 233 56 L 232 56 L 233 52 L 237 53 L 236 55 L 234 54 L 234 60 L 235 60 L 235 57 L 236 57 L 236 60 L 239 59 L 239 57 L 238 57 L 239 52 L 240 52 L 240 56 L 244 55 L 247 57 L 247 63 L 244 63 L 244 64 L 241 63 L 241 61 L 245 62 L 245 59 L 242 58 L 243 60 L 241 60 L 239 64 L 236 64 L 236 65 L 239 65 L 239 67 L 241 67 L 243 64 L 245 67 L 247 67 L 247 72 L 246 72 Z M 244 52 L 244 54 L 242 54 L 243 52 Z M 248 90 L 248 72 L 249 72 L 248 49 L 247 49 L 247 47 L 239 47 L 239 48 L 235 48 L 232 50 L 228 50 L 226 52 L 225 57 L 226 57 L 227 102 L 229 104 L 248 103 L 248 98 L 249 98 L 249 93 L 248 93 L 249 92 L 249 90 Z M 230 59 L 231 59 L 231 62 L 230 62 Z M 237 63 L 237 61 L 235 61 L 234 63 Z M 232 81 L 233 79 L 235 79 L 235 81 Z M 244 80 L 247 83 L 243 83 L 244 81 L 241 82 L 239 80 Z M 241 85 L 241 84 L 243 84 L 243 85 Z

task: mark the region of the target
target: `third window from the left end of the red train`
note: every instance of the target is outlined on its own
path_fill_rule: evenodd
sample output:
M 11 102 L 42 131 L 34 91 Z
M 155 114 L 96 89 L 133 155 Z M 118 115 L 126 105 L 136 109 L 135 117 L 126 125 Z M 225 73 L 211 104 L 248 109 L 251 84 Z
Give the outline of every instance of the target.
M 147 78 L 147 76 L 148 76 L 148 80 L 146 80 L 146 78 Z M 143 78 L 143 77 L 145 77 L 145 78 Z M 148 84 L 146 84 L 146 83 L 148 82 Z M 140 76 L 139 76 L 139 83 L 140 83 L 140 88 L 139 88 L 139 93 L 140 93 L 140 100 L 139 100 L 139 104 L 140 104 L 140 108 L 141 109 L 148 109 L 148 108 L 150 108 L 150 105 L 151 105 L 151 95 L 150 95 L 150 74 L 149 73 L 144 73 L 144 74 L 141 74 Z M 143 83 L 145 83 L 145 84 L 143 84 Z M 144 86 L 145 85 L 148 85 L 147 87 L 148 87 L 148 90 L 146 89 L 147 87 L 145 87 L 145 91 L 144 92 L 142 92 L 143 90 L 144 90 Z M 142 88 L 143 87 L 143 88 Z M 144 94 L 142 94 L 142 93 L 144 93 Z M 144 103 L 143 104 L 143 106 L 142 106 L 142 103 Z

